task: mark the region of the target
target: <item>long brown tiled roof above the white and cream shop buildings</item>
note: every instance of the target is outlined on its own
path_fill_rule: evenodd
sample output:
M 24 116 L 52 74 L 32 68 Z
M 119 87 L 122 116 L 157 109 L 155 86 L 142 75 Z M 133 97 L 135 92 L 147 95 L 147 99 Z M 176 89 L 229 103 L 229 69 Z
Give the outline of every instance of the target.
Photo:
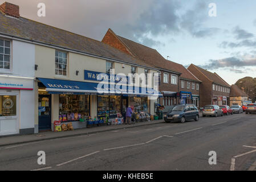
M 23 17 L 11 18 L 0 13 L 0 34 L 155 68 L 97 40 Z

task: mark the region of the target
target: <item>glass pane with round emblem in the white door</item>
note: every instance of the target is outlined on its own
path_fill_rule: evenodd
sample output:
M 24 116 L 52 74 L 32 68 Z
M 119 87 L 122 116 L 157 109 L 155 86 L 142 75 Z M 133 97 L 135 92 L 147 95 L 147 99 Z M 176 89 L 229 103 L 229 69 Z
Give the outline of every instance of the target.
M 17 96 L 0 96 L 0 117 L 17 115 Z

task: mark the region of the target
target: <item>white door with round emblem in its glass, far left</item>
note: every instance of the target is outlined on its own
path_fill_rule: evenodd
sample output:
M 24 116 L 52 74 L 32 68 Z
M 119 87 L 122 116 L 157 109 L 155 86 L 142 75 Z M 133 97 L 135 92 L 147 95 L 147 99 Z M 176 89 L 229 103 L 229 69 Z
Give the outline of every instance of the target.
M 19 133 L 18 95 L 0 94 L 0 135 Z

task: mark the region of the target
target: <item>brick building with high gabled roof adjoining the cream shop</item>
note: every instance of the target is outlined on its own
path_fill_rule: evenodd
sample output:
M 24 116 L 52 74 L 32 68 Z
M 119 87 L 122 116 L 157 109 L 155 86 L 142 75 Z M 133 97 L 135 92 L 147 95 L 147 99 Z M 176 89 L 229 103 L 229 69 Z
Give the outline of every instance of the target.
M 152 65 L 160 70 L 160 84 L 159 90 L 164 97 L 159 98 L 162 105 L 176 105 L 179 100 L 179 84 L 181 72 L 173 68 L 170 61 L 166 61 L 156 49 L 143 46 L 142 44 L 133 42 L 132 40 L 125 39 L 118 36 L 110 28 L 105 34 L 103 43 L 119 49 L 137 59 L 145 61 L 145 63 Z

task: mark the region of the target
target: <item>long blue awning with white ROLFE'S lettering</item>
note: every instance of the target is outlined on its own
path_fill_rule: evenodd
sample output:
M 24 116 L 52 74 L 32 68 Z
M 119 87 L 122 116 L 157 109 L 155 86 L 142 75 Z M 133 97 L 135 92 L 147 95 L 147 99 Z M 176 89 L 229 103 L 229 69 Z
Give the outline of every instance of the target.
M 99 84 L 95 82 L 57 80 L 51 78 L 38 78 L 46 86 L 50 94 L 97 94 L 97 95 L 121 95 L 124 96 L 162 96 L 160 92 L 151 88 L 135 86 Z

